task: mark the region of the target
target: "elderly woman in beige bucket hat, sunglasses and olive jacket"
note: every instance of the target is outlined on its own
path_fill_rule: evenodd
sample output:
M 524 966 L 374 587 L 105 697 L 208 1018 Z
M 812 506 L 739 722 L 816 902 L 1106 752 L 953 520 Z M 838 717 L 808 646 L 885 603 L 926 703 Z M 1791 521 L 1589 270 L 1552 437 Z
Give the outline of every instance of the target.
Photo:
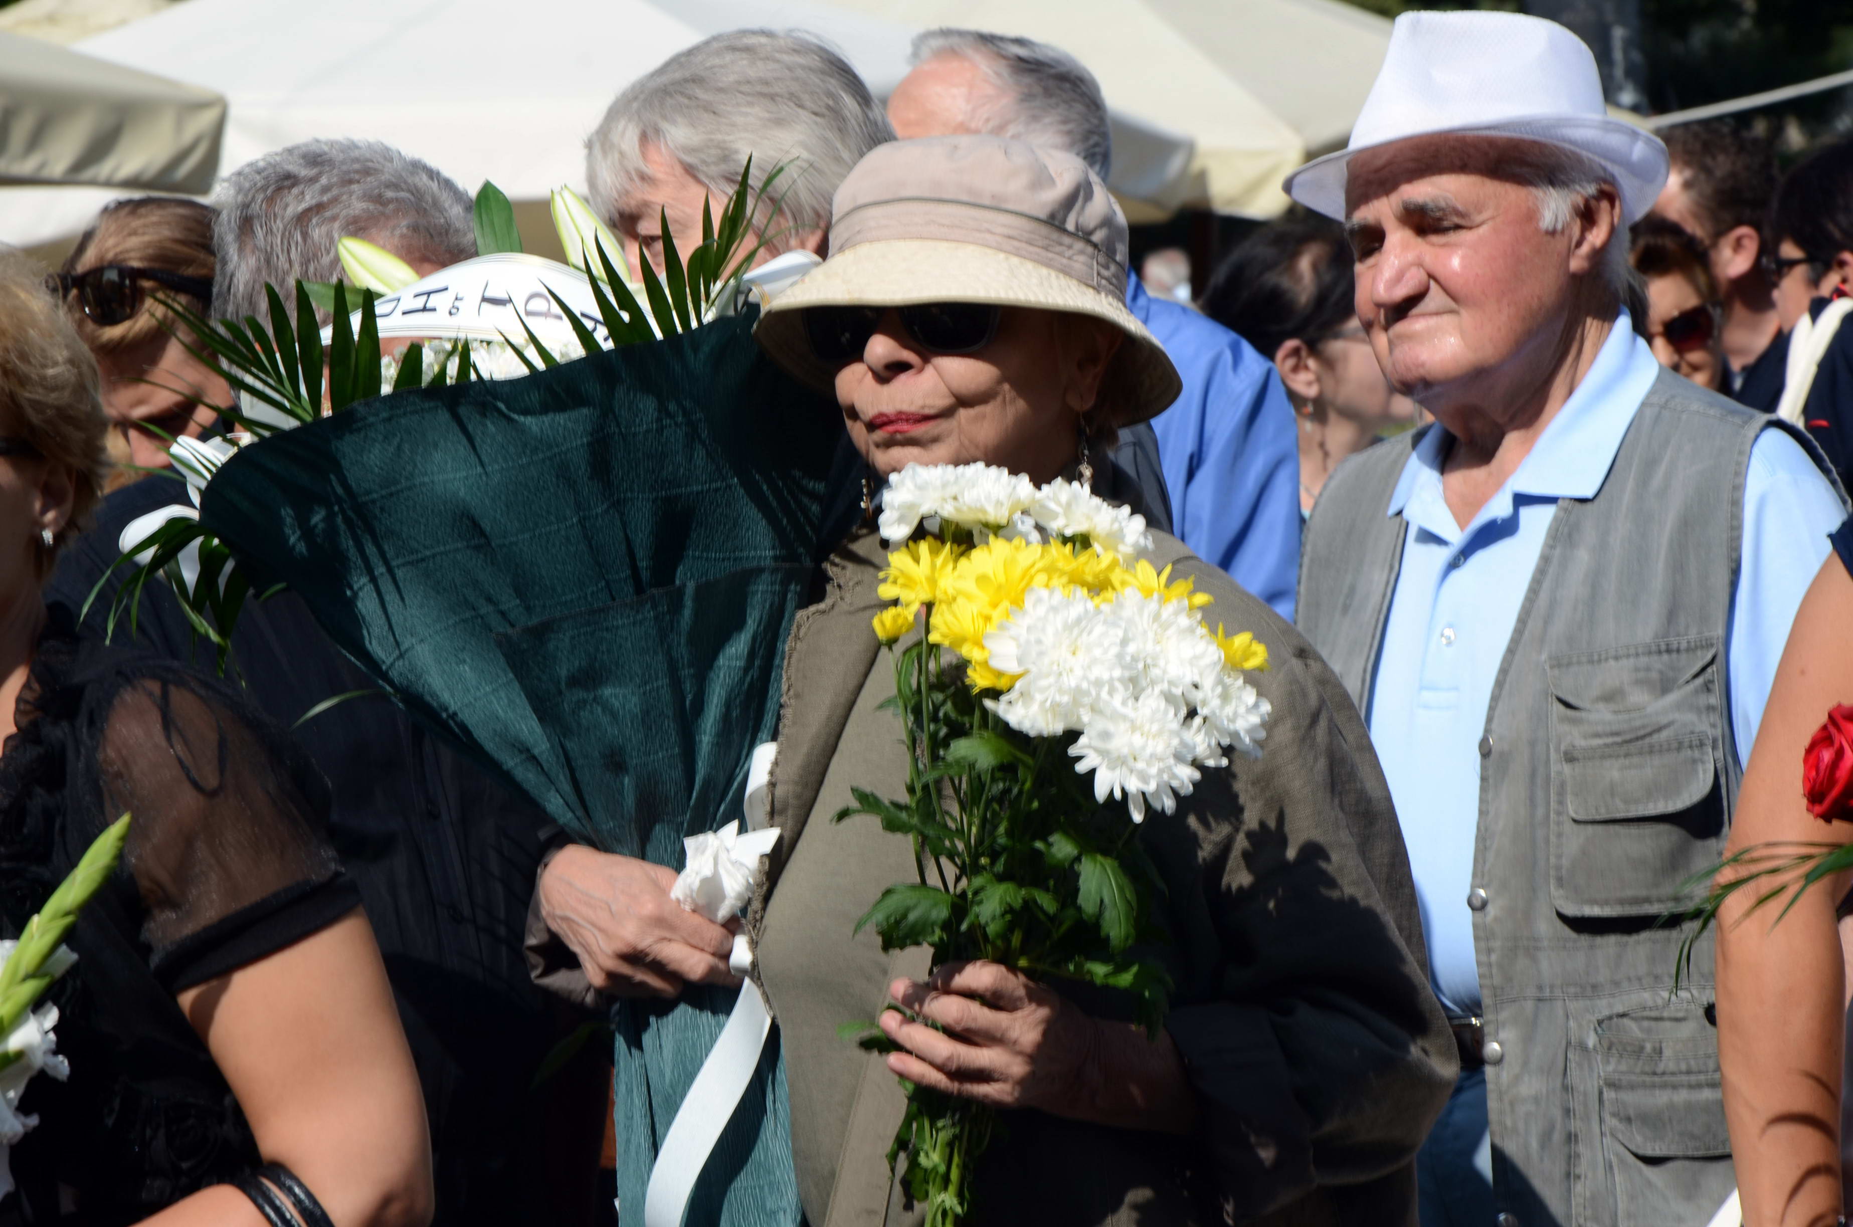
M 873 150 L 836 195 L 830 258 L 778 295 L 762 347 L 830 389 L 873 474 L 984 462 L 1040 482 L 1177 397 L 1164 348 L 1123 306 L 1127 224 L 1077 158 L 997 137 Z M 873 484 L 871 484 L 873 487 Z M 1414 1221 L 1414 1155 L 1455 1075 L 1382 773 L 1356 710 L 1305 639 L 1158 536 L 1154 565 L 1253 626 L 1273 660 L 1267 749 L 1210 771 L 1143 825 L 1167 882 L 1177 993 L 1156 1040 L 1127 1003 L 969 964 L 925 979 L 856 919 L 914 877 L 912 845 L 834 823 L 851 788 L 901 795 L 893 671 L 869 617 L 886 556 L 871 517 L 834 550 L 793 626 L 773 775 L 788 832 L 754 912 L 789 1082 L 806 1221 L 914 1221 L 888 1168 L 901 1073 L 1001 1108 L 971 1221 Z M 886 790 L 886 791 L 884 791 Z M 906 1051 L 839 1038 L 901 999 Z

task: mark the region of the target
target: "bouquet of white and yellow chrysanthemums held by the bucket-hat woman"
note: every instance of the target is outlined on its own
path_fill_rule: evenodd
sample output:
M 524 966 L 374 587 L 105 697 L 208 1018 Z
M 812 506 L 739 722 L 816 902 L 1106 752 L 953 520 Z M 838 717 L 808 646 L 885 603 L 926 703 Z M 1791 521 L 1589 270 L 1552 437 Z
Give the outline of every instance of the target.
M 936 966 L 988 958 L 1123 990 L 1156 1032 L 1171 982 L 1140 942 L 1160 936 L 1162 884 L 1136 830 L 1229 751 L 1260 753 L 1269 708 L 1245 675 L 1267 649 L 1212 632 L 1210 597 L 1140 558 L 1145 521 L 1082 484 L 914 465 L 889 480 L 880 530 L 899 543 L 875 634 L 893 654 L 908 795 L 856 790 L 836 817 L 912 838 L 919 880 L 882 892 L 858 929 L 875 925 L 882 949 L 930 945 Z M 891 1051 L 880 1032 L 862 1044 Z M 904 1086 L 889 1162 L 906 1157 L 926 1223 L 952 1227 L 991 1108 Z

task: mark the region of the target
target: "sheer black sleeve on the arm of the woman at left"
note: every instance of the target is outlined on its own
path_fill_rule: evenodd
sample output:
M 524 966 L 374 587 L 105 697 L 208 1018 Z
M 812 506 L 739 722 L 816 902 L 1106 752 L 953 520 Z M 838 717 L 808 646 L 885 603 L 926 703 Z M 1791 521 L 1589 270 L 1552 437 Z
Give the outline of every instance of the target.
M 96 741 L 102 816 L 132 816 L 124 862 L 143 940 L 176 993 L 359 906 L 313 767 L 261 715 L 189 682 L 126 680 Z

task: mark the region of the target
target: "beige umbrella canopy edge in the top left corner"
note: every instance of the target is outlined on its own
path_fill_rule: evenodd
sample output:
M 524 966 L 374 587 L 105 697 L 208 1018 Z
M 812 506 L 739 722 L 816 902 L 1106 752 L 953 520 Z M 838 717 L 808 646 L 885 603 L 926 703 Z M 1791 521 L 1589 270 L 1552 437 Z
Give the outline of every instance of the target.
M 0 183 L 206 191 L 224 117 L 209 89 L 0 32 Z

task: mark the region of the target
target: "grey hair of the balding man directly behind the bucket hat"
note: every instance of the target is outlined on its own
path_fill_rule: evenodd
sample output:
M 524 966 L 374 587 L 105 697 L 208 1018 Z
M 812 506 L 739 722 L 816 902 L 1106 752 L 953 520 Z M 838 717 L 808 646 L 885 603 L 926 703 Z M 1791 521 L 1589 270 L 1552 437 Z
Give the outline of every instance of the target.
M 938 56 L 969 59 L 1002 91 L 1001 102 L 967 117 L 973 130 L 1075 154 L 1103 180 L 1114 169 L 1106 95 L 1093 72 L 1060 46 L 943 28 L 915 35 L 912 52 L 915 65 Z

